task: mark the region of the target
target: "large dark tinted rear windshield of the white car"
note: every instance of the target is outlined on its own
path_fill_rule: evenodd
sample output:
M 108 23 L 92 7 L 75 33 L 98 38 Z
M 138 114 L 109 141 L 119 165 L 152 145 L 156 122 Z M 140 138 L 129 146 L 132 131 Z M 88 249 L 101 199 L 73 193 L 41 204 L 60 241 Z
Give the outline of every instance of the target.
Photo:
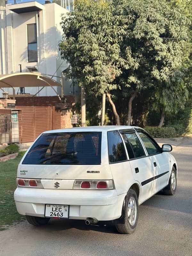
M 100 164 L 101 132 L 45 133 L 22 164 Z

